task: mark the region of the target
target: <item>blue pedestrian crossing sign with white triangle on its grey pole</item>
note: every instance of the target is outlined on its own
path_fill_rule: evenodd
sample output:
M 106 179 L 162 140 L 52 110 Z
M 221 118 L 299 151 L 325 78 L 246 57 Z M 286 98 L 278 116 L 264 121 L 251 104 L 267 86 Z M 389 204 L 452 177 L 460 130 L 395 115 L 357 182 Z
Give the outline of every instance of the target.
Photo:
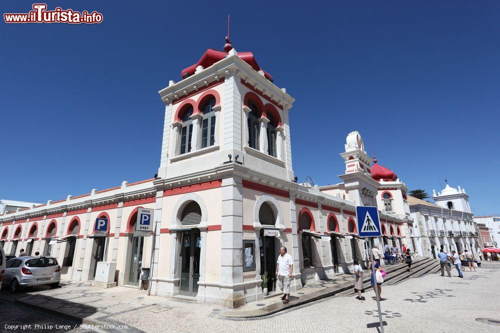
M 383 333 L 382 312 L 380 310 L 380 296 L 378 295 L 378 285 L 375 276 L 375 261 L 371 249 L 373 237 L 381 236 L 380 220 L 378 219 L 378 209 L 369 206 L 356 206 L 357 230 L 359 236 L 368 237 L 368 252 L 371 261 L 371 274 L 373 276 L 373 286 L 375 287 L 376 307 L 378 310 L 378 321 L 380 322 L 380 333 Z

